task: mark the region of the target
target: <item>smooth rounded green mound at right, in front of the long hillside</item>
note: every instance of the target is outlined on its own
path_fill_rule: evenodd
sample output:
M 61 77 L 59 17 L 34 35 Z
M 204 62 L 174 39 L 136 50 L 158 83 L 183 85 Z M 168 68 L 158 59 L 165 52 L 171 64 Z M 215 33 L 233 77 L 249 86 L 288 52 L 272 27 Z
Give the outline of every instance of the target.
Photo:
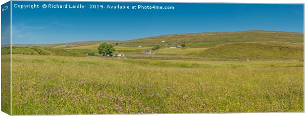
M 221 44 L 198 53 L 205 58 L 303 59 L 304 44 L 289 42 L 246 42 Z

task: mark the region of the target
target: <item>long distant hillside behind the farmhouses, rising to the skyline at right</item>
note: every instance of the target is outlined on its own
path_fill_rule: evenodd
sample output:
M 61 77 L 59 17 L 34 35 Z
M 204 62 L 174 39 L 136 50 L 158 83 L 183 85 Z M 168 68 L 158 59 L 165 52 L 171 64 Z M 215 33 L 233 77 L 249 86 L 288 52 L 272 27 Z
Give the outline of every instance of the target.
M 280 42 L 300 43 L 304 41 L 304 34 L 298 32 L 262 31 L 262 30 L 171 34 L 171 35 L 153 36 L 148 38 L 124 41 L 120 42 L 119 46 L 137 47 L 139 45 L 141 46 L 159 45 L 161 47 L 170 47 L 173 45 L 181 45 L 183 42 L 185 42 L 187 47 L 208 48 L 225 43 L 258 42 L 258 41 L 280 41 Z

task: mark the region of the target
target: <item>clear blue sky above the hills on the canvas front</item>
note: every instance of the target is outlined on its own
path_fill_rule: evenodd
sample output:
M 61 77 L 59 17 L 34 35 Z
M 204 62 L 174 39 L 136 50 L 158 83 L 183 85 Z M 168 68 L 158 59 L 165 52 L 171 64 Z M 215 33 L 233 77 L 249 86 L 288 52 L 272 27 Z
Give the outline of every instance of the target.
M 13 7 L 13 44 L 51 44 L 213 31 L 304 31 L 302 4 L 34 2 L 13 4 L 127 4 L 174 10 L 19 9 Z

